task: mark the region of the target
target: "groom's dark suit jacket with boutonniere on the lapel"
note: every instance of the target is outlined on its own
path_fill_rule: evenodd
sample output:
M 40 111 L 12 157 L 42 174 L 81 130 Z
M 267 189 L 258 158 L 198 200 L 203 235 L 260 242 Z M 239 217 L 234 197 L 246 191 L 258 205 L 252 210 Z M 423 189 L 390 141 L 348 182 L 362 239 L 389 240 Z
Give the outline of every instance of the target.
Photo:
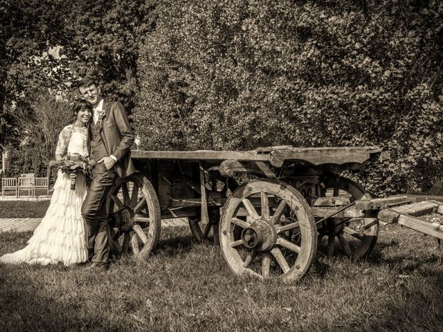
M 116 172 L 120 178 L 129 176 L 135 172 L 131 160 L 132 143 L 134 142 L 134 132 L 127 119 L 126 111 L 120 102 L 103 102 L 103 111 L 105 116 L 102 118 L 100 126 L 100 137 L 105 143 L 108 156 L 117 158 Z M 88 124 L 89 135 L 87 146 L 89 155 L 91 155 L 91 125 Z

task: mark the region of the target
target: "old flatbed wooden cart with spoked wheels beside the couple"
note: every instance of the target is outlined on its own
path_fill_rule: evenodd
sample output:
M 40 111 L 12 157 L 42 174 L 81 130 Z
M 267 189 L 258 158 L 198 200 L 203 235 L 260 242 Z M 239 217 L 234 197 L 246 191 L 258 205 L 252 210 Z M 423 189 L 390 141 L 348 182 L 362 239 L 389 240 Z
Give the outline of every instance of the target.
M 132 151 L 138 172 L 107 201 L 114 249 L 143 259 L 161 219 L 187 217 L 197 239 L 213 234 L 234 273 L 292 282 L 317 252 L 363 257 L 374 248 L 379 211 L 357 210 L 369 194 L 338 174 L 380 156 L 378 147 Z

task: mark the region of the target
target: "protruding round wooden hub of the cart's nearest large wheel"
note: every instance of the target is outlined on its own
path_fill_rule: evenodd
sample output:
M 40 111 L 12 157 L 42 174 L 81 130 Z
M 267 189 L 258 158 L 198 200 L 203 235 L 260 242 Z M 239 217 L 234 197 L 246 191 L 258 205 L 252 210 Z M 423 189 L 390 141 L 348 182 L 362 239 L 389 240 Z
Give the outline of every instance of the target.
M 272 225 L 266 221 L 258 219 L 251 223 L 251 226 L 242 231 L 242 242 L 248 249 L 256 251 L 271 250 L 275 245 L 277 233 Z

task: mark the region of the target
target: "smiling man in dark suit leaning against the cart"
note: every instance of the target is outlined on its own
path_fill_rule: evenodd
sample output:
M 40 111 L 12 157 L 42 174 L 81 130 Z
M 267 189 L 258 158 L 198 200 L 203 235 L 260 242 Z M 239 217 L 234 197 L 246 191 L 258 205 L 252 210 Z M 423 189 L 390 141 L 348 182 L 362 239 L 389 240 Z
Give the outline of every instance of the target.
M 118 176 L 124 178 L 135 172 L 129 151 L 134 133 L 123 105 L 105 102 L 94 80 L 83 78 L 77 87 L 80 95 L 94 107 L 87 145 L 89 158 L 96 161 L 96 166 L 82 205 L 82 216 L 91 266 L 106 269 L 109 266 L 107 195 Z

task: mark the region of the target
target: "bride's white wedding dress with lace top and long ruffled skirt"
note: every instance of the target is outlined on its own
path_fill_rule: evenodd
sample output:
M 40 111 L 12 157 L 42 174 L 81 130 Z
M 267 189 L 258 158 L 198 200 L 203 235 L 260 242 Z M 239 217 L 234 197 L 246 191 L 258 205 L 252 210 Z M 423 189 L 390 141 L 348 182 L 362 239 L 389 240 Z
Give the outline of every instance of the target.
M 78 153 L 87 156 L 87 128 L 69 124 L 61 131 L 55 154 Z M 19 264 L 58 264 L 66 266 L 87 260 L 87 240 L 81 214 L 86 196 L 86 181 L 78 174 L 75 190 L 71 179 L 61 171 L 57 174 L 51 203 L 42 222 L 25 248 L 0 257 L 0 262 Z

